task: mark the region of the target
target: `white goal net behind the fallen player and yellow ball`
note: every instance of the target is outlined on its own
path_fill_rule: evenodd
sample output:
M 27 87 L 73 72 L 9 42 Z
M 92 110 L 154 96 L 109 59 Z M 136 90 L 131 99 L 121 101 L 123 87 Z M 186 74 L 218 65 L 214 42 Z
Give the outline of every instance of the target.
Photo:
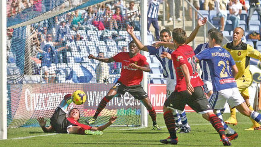
M 139 30 L 139 1 L 7 0 L 7 124 L 39 126 L 66 94 L 83 90 L 80 123 L 91 118 L 113 83 L 120 63 L 90 60 L 128 52 L 125 25 Z M 129 93 L 114 97 L 95 124 L 118 116 L 115 125 L 139 125 L 141 103 Z

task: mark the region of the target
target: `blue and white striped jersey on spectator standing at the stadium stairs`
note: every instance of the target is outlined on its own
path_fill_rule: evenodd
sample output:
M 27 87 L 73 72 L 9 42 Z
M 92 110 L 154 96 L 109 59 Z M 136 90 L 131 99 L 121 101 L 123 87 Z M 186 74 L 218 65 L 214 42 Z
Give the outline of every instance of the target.
M 148 18 L 158 18 L 160 0 L 150 0 L 148 7 Z

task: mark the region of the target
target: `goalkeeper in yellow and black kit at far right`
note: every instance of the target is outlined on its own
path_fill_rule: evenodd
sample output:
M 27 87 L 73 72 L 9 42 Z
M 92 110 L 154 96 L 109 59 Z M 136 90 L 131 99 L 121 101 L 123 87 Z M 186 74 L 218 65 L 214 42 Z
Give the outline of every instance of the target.
M 240 91 L 242 97 L 246 101 L 246 105 L 250 110 L 253 110 L 252 106 L 249 104 L 249 92 L 248 87 L 253 82 L 252 73 L 249 70 L 249 60 L 250 57 L 261 60 L 261 53 L 255 50 L 251 45 L 242 42 L 241 38 L 244 36 L 244 29 L 237 27 L 233 31 L 233 41 L 224 45 L 227 51 L 230 52 L 235 64 L 238 68 L 238 74 L 235 77 L 237 82 L 238 90 Z M 231 116 L 225 122 L 227 124 L 237 124 L 235 116 L 235 108 L 230 108 Z M 246 130 L 261 130 L 260 124 L 251 119 L 253 126 Z

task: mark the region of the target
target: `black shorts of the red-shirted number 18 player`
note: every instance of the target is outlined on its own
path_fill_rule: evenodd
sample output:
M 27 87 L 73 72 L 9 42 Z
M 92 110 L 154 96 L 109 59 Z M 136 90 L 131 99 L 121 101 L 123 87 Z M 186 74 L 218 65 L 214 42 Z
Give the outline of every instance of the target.
M 195 87 L 192 95 L 188 91 L 174 91 L 164 102 L 165 107 L 184 110 L 185 105 L 189 105 L 197 113 L 211 110 L 209 102 L 201 86 Z

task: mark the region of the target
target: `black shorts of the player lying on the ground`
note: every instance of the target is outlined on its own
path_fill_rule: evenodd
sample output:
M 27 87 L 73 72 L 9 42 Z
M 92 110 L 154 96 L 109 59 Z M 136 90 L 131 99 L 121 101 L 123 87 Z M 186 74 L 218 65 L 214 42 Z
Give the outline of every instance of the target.
M 50 124 L 57 133 L 67 133 L 68 126 L 76 126 L 75 124 L 72 124 L 70 121 L 67 120 L 66 113 L 59 107 L 55 109 L 55 112 L 50 120 Z

